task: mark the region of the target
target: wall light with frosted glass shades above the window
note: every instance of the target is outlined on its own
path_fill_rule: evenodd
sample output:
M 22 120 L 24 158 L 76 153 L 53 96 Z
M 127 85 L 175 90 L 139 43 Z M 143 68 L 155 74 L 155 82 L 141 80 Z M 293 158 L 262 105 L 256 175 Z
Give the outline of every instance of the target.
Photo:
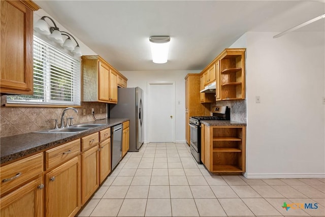
M 54 24 L 54 27 L 49 26 L 48 23 L 45 21 L 45 18 L 49 18 Z M 49 38 L 56 43 L 63 44 L 62 47 L 66 48 L 74 55 L 82 56 L 81 49 L 79 47 L 77 40 L 71 34 L 60 31 L 60 29 L 56 26 L 54 20 L 51 17 L 43 16 L 41 19 L 39 19 L 35 23 L 34 30 L 40 34 L 49 36 Z M 63 41 L 62 36 L 67 36 L 68 38 L 65 41 Z M 70 37 L 72 37 L 75 40 L 76 45 L 71 40 Z

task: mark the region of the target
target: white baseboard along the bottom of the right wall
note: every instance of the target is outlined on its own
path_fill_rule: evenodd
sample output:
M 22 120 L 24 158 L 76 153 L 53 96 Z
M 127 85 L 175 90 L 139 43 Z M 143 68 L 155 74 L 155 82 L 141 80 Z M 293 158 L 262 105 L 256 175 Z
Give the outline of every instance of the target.
M 245 178 L 325 178 L 325 173 L 244 173 Z

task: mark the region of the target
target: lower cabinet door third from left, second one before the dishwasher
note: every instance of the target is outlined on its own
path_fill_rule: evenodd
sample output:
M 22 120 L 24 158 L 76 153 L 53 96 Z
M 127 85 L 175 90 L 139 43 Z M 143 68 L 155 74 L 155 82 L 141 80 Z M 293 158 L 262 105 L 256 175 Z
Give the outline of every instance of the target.
M 99 151 L 98 145 L 81 154 L 82 164 L 82 196 L 81 203 L 85 204 L 99 187 Z

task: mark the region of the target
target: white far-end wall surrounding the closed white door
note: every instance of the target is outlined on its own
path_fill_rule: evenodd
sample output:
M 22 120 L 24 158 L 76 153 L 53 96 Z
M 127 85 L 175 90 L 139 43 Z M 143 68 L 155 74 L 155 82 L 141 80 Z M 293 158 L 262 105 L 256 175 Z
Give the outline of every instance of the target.
M 127 87 L 139 86 L 144 91 L 144 140 L 147 141 L 147 83 L 175 82 L 175 142 L 185 142 L 185 76 L 200 71 L 120 71 L 127 78 Z

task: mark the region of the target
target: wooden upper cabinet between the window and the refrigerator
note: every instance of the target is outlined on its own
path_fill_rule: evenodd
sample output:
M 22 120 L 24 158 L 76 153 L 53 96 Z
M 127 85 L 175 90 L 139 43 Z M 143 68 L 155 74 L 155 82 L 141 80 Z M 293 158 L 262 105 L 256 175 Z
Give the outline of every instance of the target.
M 117 103 L 118 72 L 100 56 L 82 56 L 82 101 Z

